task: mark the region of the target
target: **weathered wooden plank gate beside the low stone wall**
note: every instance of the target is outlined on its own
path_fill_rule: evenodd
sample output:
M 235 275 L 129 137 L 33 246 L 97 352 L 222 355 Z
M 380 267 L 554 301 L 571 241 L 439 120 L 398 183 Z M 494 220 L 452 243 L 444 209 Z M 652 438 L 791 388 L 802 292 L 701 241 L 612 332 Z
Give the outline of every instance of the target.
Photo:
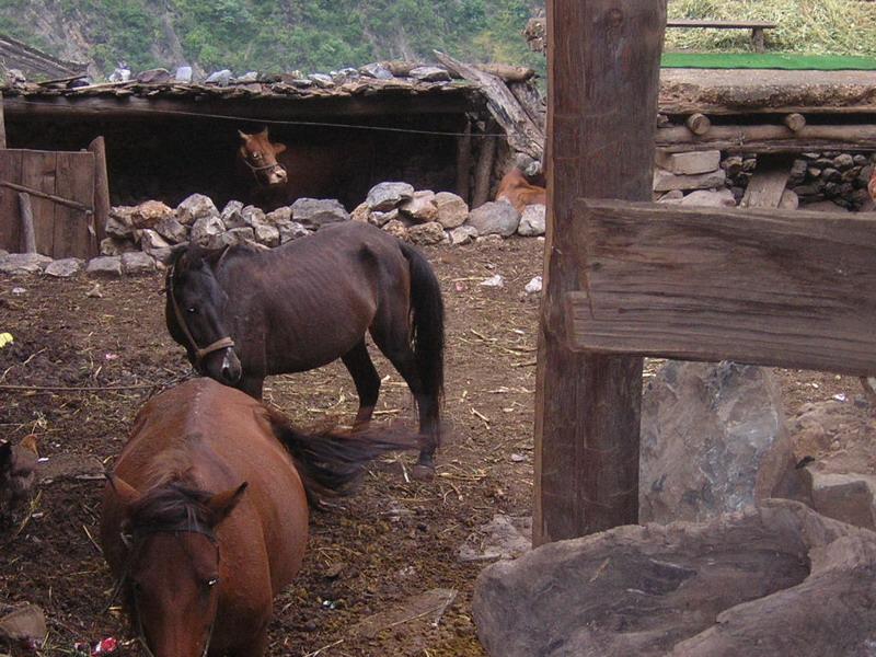
M 83 151 L 0 149 L 0 249 L 24 251 L 20 194 L 30 195 L 36 251 L 94 257 L 110 193 L 103 138 Z

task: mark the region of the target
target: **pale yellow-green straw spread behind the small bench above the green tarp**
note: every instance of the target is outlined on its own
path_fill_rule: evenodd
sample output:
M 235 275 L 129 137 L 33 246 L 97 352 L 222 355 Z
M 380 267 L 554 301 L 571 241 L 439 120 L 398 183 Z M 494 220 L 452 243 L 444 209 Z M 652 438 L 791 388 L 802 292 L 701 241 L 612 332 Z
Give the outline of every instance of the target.
M 669 0 L 676 19 L 773 21 L 766 47 L 810 55 L 876 57 L 876 2 L 861 0 Z M 745 30 L 667 30 L 667 49 L 751 49 Z

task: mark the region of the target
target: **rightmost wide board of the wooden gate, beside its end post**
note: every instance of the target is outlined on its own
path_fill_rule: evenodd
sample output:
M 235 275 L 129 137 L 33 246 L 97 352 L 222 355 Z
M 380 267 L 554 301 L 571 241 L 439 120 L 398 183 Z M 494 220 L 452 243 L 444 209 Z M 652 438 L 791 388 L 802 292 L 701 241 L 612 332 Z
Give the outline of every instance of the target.
M 56 165 L 55 193 L 82 204 L 94 200 L 94 153 L 59 152 Z M 53 257 L 81 257 L 91 253 L 89 226 L 91 215 L 58 206 L 55 209 Z

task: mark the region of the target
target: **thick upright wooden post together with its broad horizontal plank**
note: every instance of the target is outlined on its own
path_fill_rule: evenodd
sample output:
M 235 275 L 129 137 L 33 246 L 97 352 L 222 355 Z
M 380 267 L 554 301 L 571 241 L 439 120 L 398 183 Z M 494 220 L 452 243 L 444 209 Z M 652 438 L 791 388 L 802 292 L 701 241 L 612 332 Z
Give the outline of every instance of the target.
M 876 372 L 876 215 L 630 203 L 650 200 L 665 4 L 548 7 L 535 544 L 637 522 L 643 356 Z

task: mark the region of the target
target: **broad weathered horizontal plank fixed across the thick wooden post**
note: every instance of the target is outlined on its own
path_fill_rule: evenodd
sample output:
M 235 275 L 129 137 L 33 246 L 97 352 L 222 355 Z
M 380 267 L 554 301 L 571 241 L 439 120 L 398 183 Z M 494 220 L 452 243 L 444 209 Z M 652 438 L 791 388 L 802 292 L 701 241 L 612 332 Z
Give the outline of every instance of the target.
M 573 348 L 876 373 L 876 214 L 580 199 L 575 217 Z

